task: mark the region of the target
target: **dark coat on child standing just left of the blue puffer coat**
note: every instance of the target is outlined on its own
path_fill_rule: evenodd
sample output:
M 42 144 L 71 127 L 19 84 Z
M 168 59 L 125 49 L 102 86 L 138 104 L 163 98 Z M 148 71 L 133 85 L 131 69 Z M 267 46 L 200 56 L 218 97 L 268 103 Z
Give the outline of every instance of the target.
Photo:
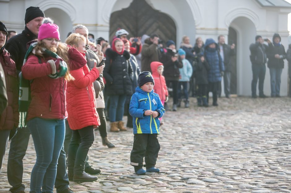
M 202 63 L 200 57 L 198 58 L 198 62 L 196 64 L 196 84 L 208 84 L 208 71 L 210 70 L 210 66 L 207 63 L 206 59 Z

